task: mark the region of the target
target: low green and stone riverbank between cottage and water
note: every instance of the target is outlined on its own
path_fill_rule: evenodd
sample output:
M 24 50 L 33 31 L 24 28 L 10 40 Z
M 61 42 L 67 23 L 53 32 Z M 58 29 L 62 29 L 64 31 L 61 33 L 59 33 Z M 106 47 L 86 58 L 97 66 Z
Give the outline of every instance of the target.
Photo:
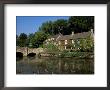
M 43 52 L 38 54 L 39 57 L 59 57 L 59 58 L 94 58 L 93 52 Z

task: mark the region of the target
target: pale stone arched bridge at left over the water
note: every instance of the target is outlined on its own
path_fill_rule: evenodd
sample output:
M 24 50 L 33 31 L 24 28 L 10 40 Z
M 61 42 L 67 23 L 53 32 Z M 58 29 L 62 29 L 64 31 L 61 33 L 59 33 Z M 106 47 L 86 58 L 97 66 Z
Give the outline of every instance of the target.
M 23 53 L 23 56 L 27 56 L 30 53 L 35 53 L 37 55 L 43 51 L 43 48 L 16 47 L 16 52 Z

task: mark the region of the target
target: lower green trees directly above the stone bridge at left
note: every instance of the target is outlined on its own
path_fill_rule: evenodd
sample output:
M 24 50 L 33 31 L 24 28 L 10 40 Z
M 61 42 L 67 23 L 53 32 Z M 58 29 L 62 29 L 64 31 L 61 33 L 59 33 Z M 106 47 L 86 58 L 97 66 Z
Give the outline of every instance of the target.
M 47 34 L 41 31 L 36 32 L 35 34 L 29 34 L 28 36 L 21 33 L 19 37 L 16 37 L 16 39 L 17 46 L 37 48 L 42 46 L 43 41 L 47 39 Z

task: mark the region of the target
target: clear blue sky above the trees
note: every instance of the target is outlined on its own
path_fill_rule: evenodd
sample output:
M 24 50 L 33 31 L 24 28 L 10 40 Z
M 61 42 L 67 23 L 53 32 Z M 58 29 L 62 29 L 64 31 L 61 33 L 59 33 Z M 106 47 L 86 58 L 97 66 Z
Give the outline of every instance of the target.
M 35 33 L 38 31 L 42 23 L 46 21 L 56 21 L 57 19 L 68 19 L 69 16 L 16 16 L 16 32 L 17 35 L 25 33 Z

